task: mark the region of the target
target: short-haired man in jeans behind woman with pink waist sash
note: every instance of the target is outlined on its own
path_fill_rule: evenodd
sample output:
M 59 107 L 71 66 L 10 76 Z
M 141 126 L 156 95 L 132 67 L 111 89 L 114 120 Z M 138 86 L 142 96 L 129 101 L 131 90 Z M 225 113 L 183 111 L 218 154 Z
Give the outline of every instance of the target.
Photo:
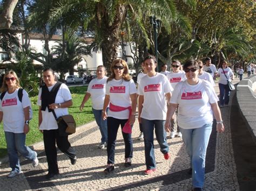
M 95 117 L 96 123 L 99 126 L 102 138 L 100 140 L 99 148 L 103 149 L 107 145 L 107 122 L 102 118 L 103 103 L 106 94 L 106 68 L 103 65 L 97 67 L 97 78 L 90 81 L 87 92 L 84 95 L 83 101 L 80 105 L 80 111 L 83 110 L 84 104 L 91 97 L 92 112 Z

